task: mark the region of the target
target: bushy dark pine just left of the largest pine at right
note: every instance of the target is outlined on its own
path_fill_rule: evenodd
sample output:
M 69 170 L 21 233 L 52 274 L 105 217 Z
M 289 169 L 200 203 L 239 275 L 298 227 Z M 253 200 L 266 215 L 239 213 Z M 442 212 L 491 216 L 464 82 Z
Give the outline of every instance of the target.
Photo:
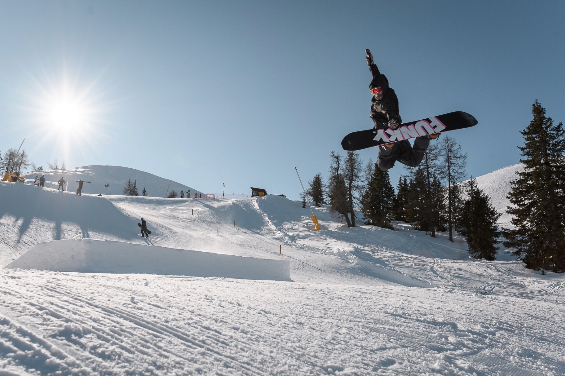
M 467 237 L 468 253 L 476 259 L 494 260 L 498 253 L 497 238 L 501 235 L 497 227 L 501 213 L 494 209 L 490 197 L 477 186 L 475 179 L 471 178 L 468 186 L 468 198 L 460 219 Z

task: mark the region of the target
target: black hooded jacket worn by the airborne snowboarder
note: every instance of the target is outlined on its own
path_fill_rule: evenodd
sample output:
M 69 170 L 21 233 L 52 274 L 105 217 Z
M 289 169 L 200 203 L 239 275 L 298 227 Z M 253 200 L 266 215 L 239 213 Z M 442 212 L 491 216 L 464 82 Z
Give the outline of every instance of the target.
M 375 123 L 375 128 L 386 128 L 390 119 L 396 118 L 398 123 L 402 123 L 400 110 L 398 109 L 398 98 L 394 89 L 388 86 L 388 79 L 381 74 L 379 68 L 372 64 L 369 69 L 373 75 L 371 87 L 380 87 L 383 89 L 383 99 L 371 99 L 371 119 Z

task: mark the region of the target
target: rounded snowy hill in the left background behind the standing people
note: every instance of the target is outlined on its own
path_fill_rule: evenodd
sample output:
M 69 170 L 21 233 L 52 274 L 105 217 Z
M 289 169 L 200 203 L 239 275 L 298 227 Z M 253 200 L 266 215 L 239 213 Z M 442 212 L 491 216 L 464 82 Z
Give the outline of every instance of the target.
M 60 178 L 63 178 L 68 183 L 68 185 L 65 184 L 65 189 L 73 192 L 78 188 L 76 180 L 82 179 L 85 182 L 91 182 L 84 184 L 83 192 L 85 193 L 123 195 L 125 183 L 128 179 L 131 179 L 132 182 L 137 182 L 137 190 L 140 196 L 144 188 L 147 196 L 150 197 L 166 197 L 173 190 L 179 194 L 181 190 L 184 192 L 190 191 L 190 193 L 202 193 L 174 180 L 121 166 L 93 165 L 66 170 L 33 171 L 23 174 L 24 178 L 31 180 L 31 182 L 36 176 L 41 177 L 41 175 L 45 175 L 45 187 L 57 189 L 59 186 L 57 182 Z M 105 185 L 108 186 L 105 187 Z

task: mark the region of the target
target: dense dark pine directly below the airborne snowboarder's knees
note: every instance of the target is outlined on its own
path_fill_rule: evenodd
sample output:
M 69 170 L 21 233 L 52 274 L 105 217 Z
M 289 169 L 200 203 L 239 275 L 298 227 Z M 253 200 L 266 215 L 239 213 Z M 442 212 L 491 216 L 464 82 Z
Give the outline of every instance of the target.
M 389 173 L 381 171 L 375 164 L 371 181 L 361 197 L 361 212 L 367 218 L 367 224 L 393 229 L 393 198 L 394 189 L 390 185 Z

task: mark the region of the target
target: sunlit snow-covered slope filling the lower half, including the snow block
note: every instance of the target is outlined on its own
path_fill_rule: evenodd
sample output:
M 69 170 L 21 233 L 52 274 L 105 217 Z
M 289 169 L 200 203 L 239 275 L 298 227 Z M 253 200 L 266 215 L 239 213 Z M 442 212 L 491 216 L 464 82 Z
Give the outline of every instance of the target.
M 565 374 L 565 276 L 301 206 L 0 183 L 0 375 Z

